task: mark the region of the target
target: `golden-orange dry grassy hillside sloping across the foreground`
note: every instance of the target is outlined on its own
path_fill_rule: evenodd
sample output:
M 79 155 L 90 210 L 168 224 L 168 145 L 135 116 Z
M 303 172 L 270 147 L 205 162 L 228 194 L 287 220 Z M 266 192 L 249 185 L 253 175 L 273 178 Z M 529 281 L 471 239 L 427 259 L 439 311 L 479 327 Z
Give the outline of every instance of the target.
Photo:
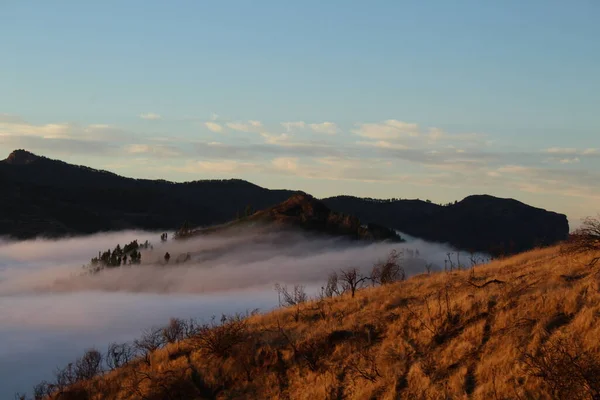
M 60 398 L 598 399 L 599 255 L 545 248 L 229 319 Z

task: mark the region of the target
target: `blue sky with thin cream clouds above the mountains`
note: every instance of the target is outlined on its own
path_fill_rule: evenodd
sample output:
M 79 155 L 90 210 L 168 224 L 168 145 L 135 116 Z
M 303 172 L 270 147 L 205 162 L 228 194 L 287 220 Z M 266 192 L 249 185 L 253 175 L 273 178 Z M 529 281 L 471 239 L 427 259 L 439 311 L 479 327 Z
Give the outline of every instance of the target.
M 600 212 L 596 0 L 0 0 L 0 158 Z M 3 156 L 4 154 L 4 156 Z

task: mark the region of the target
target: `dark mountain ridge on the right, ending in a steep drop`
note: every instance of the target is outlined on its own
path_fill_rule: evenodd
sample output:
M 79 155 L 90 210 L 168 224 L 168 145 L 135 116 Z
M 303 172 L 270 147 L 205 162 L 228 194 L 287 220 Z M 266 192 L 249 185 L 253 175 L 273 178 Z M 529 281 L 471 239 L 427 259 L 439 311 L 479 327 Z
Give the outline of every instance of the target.
M 563 214 L 488 195 L 469 196 L 446 206 L 420 200 L 388 202 L 349 196 L 331 197 L 324 202 L 361 221 L 493 255 L 551 245 L 569 235 L 569 223 Z

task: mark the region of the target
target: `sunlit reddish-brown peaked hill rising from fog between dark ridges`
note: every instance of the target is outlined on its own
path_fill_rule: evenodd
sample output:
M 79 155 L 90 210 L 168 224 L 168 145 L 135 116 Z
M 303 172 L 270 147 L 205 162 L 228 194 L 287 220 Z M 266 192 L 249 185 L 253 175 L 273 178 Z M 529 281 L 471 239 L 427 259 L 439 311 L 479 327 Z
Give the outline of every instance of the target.
M 322 201 L 306 193 L 297 193 L 280 204 L 257 211 L 237 221 L 188 232 L 187 235 L 195 236 L 263 224 L 267 227 L 300 228 L 309 232 L 351 239 L 402 241 L 393 229 L 374 223 L 362 224 L 354 215 L 332 211 Z

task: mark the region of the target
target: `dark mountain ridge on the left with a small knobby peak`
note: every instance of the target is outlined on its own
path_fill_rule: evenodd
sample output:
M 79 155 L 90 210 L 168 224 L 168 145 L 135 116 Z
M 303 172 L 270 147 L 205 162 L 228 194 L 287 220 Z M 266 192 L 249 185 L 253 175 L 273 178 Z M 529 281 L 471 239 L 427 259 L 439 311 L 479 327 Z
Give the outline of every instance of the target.
M 130 228 L 167 230 L 234 219 L 295 192 L 243 180 L 172 183 L 125 178 L 24 150 L 0 161 L 0 235 L 31 238 Z

